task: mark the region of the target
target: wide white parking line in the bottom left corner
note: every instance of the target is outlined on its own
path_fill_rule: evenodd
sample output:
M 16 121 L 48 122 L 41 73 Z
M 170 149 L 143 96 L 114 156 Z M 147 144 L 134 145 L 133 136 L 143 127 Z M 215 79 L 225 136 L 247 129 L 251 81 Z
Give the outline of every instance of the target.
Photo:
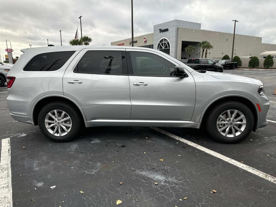
M 13 207 L 10 169 L 10 138 L 2 139 L 0 162 L 0 206 Z

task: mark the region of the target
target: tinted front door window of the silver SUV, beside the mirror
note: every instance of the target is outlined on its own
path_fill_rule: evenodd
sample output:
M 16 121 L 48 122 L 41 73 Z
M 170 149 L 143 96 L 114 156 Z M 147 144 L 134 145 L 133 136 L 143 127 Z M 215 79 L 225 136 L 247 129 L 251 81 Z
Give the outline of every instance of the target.
M 170 76 L 175 65 L 148 52 L 130 52 L 133 75 Z

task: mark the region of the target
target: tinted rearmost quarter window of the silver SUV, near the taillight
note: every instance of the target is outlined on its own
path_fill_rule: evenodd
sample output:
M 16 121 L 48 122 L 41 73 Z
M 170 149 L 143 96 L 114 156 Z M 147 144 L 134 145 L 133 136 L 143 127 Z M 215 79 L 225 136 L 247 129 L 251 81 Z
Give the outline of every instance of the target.
M 60 69 L 75 51 L 47 52 L 34 56 L 24 71 L 54 71 Z

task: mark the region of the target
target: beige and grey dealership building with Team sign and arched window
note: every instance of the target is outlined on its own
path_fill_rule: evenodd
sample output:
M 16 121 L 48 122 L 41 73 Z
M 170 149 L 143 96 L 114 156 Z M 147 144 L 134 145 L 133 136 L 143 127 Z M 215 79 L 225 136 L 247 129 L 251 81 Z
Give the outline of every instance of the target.
M 213 49 L 208 50 L 207 58 L 220 59 L 226 54 L 231 58 L 233 33 L 202 30 L 201 23 L 190 21 L 172 20 L 154 25 L 153 33 L 134 37 L 133 44 L 135 47 L 161 50 L 177 59 L 188 59 L 185 48 L 195 46 L 191 58 L 200 58 L 202 50 L 198 43 L 204 40 L 213 46 Z M 131 46 L 131 38 L 111 42 L 111 45 Z M 266 51 L 276 51 L 276 44 L 262 43 L 261 37 L 235 34 L 234 56 L 260 58 L 260 53 Z

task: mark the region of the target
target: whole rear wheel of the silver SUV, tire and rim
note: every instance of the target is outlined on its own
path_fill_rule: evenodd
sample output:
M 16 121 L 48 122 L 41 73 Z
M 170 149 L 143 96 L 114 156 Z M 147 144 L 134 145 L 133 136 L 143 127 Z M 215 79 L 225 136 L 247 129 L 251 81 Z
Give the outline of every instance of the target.
M 41 109 L 38 125 L 47 138 L 55 142 L 67 142 L 78 136 L 81 116 L 70 104 L 52 102 Z

